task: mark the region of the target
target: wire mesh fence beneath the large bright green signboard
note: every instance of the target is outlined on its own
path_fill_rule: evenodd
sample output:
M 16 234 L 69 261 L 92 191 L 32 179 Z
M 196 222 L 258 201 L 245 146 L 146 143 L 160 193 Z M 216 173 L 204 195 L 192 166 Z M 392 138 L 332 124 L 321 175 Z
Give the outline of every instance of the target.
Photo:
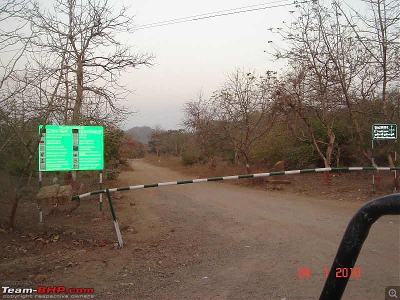
M 57 177 L 44 173 L 42 186 L 52 184 L 69 185 L 64 180 L 66 172 Z M 77 172 L 74 195 L 99 188 L 98 172 Z M 106 187 L 109 182 L 102 183 Z M 13 229 L 32 236 L 67 238 L 79 242 L 111 243 L 116 238 L 107 197 L 103 195 L 100 206 L 99 195 L 77 199 L 66 204 L 38 206 L 36 195 L 39 179 L 0 176 L 0 224 L 8 226 L 12 207 L 17 199 Z M 100 213 L 101 209 L 101 213 Z

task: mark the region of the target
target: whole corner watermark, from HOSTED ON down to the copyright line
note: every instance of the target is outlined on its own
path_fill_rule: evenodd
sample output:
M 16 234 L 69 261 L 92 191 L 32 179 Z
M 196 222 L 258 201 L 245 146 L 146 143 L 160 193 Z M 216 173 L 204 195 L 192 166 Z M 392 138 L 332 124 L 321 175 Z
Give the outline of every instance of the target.
M 37 284 L 37 283 L 36 283 Z M 2 299 L 92 299 L 92 287 L 34 286 L 31 281 L 2 281 Z

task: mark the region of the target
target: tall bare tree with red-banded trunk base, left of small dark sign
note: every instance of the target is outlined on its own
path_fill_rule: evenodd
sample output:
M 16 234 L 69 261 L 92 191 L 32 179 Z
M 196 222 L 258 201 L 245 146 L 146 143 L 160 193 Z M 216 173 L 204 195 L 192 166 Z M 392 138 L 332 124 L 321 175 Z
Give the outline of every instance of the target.
M 277 99 L 287 116 L 292 115 L 292 111 L 305 125 L 306 134 L 301 131 L 297 137 L 309 140 L 324 166 L 329 167 L 336 142 L 332 127 L 345 107 L 336 88 L 335 65 L 324 43 L 323 31 L 319 30 L 329 27 L 330 12 L 314 2 L 298 6 L 297 21 L 278 31 L 288 41 L 289 48 L 275 46 L 271 53 L 277 59 L 286 59 L 290 66 L 276 86 Z M 318 13 L 325 18 L 317 18 Z M 326 139 L 317 138 L 318 130 L 323 130 Z M 328 175 L 326 171 L 324 183 L 329 182 Z

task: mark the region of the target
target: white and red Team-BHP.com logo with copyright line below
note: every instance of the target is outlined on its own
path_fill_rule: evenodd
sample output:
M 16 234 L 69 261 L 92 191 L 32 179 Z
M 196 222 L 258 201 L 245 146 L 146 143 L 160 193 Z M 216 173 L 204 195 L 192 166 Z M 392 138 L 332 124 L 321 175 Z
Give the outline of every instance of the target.
M 66 288 L 65 286 L 38 286 L 37 288 L 15 288 L 1 286 L 2 298 L 34 299 L 34 298 L 94 298 L 93 288 Z M 35 294 L 33 294 L 35 293 Z

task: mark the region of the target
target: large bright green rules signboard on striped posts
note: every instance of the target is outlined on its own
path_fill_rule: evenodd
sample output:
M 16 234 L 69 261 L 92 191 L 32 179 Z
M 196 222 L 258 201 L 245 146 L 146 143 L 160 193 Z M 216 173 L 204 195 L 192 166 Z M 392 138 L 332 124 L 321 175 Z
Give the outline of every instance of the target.
M 102 170 L 103 133 L 101 126 L 45 125 L 39 171 Z

